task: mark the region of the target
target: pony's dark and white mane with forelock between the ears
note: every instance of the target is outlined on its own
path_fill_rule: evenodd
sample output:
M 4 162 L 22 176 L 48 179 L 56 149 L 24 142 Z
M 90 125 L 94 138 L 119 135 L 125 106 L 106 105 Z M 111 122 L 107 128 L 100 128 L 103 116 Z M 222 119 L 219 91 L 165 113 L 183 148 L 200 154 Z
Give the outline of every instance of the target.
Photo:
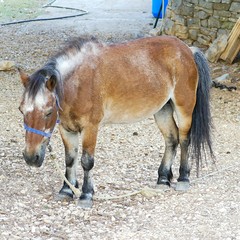
M 63 79 L 59 70 L 56 67 L 57 60 L 61 57 L 69 58 L 70 54 L 80 52 L 82 47 L 89 42 L 98 43 L 98 41 L 93 37 L 72 39 L 61 51 L 59 51 L 55 56 L 50 58 L 46 65 L 33 73 L 29 77 L 29 82 L 26 89 L 26 91 L 28 91 L 29 97 L 34 99 L 38 91 L 45 84 L 46 78 L 51 77 L 56 79 L 55 94 L 57 95 L 59 100 L 61 100 L 63 96 Z

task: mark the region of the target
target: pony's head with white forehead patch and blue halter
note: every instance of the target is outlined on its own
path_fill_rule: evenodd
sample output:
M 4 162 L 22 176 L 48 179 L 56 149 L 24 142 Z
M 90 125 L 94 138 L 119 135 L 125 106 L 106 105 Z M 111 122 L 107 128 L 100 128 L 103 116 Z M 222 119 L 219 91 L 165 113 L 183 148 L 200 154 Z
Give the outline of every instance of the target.
M 24 86 L 19 107 L 26 130 L 23 156 L 30 166 L 40 167 L 58 117 L 58 75 L 47 67 L 31 76 L 19 73 Z

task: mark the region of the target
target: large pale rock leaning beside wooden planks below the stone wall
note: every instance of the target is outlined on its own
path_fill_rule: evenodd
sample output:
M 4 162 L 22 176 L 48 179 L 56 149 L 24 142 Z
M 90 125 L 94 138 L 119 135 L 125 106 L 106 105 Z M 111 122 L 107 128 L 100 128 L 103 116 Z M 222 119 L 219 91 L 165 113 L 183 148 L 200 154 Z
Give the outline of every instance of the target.
M 224 51 L 224 49 L 227 46 L 227 40 L 228 36 L 227 35 L 222 35 L 216 38 L 209 49 L 206 51 L 206 58 L 210 62 L 217 62 L 219 59 L 220 55 Z

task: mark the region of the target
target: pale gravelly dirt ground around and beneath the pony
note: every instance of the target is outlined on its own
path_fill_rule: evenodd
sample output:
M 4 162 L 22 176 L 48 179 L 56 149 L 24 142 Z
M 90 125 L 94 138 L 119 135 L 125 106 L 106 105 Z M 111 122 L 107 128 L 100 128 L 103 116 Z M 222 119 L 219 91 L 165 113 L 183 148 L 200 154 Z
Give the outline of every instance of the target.
M 1 28 L 1 60 L 12 60 L 31 73 L 76 32 Z M 118 35 L 119 36 L 119 35 Z M 113 36 L 116 41 L 132 36 Z M 101 36 L 104 39 L 104 36 Z M 213 77 L 229 73 L 237 91 L 213 88 L 213 145 L 216 166 L 195 168 L 188 192 L 137 194 L 95 200 L 90 210 L 57 201 L 62 180 L 47 153 L 44 166 L 30 168 L 22 157 L 24 130 L 18 105 L 22 86 L 15 70 L 0 71 L 0 239 L 226 239 L 240 240 L 240 64 L 212 64 Z M 133 134 L 135 133 L 135 134 Z M 137 134 L 136 134 L 137 133 Z M 58 130 L 51 140 L 64 171 Z M 153 118 L 101 129 L 93 177 L 96 196 L 121 195 L 154 187 L 164 142 Z M 179 159 L 174 163 L 176 181 Z M 82 169 L 79 165 L 79 181 Z

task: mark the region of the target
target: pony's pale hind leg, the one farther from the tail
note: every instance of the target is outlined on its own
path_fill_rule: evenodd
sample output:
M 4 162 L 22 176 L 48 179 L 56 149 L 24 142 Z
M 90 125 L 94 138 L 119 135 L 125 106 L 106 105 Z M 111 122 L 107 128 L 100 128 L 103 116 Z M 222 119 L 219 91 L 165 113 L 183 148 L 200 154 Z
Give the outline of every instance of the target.
M 165 152 L 158 169 L 158 186 L 170 186 L 172 174 L 172 163 L 176 156 L 178 146 L 178 129 L 173 118 L 173 109 L 168 102 L 155 115 L 155 121 L 163 134 L 165 140 Z

